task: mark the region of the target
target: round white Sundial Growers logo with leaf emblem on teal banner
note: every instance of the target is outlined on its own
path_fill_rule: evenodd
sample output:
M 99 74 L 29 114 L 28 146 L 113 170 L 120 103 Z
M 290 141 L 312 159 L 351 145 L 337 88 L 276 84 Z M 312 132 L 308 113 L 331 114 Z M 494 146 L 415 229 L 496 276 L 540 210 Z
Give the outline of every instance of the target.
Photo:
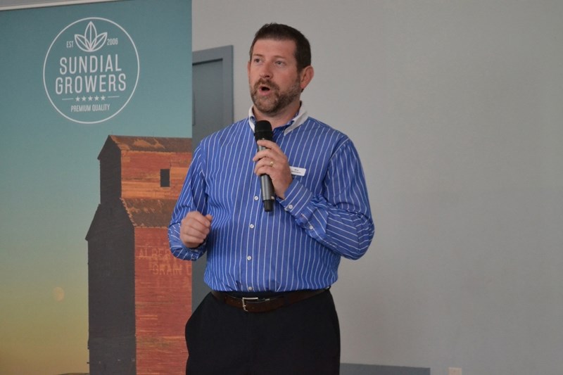
M 45 56 L 43 84 L 58 113 L 81 124 L 109 120 L 139 81 L 133 39 L 113 21 L 84 18 L 59 32 Z

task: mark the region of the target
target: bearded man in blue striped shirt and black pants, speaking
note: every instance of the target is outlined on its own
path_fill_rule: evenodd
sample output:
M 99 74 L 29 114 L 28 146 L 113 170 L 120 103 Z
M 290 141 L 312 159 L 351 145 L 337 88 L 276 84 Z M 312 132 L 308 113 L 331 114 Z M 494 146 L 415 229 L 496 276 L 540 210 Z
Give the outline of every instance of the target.
M 177 258 L 207 252 L 213 290 L 186 324 L 189 374 L 339 373 L 329 287 L 341 257 L 366 252 L 374 224 L 352 142 L 301 103 L 310 59 L 298 30 L 260 28 L 248 61 L 248 118 L 194 152 L 169 228 Z M 271 123 L 273 141 L 255 141 L 260 120 Z M 276 195 L 271 212 L 259 198 L 262 174 Z

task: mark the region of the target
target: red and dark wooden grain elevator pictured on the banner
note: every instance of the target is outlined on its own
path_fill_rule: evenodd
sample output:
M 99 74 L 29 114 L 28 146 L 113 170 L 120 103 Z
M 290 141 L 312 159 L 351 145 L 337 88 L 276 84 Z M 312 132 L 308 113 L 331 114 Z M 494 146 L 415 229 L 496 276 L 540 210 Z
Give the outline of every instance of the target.
M 88 234 L 90 374 L 184 374 L 191 262 L 167 226 L 191 139 L 114 136 L 99 154 L 100 203 Z

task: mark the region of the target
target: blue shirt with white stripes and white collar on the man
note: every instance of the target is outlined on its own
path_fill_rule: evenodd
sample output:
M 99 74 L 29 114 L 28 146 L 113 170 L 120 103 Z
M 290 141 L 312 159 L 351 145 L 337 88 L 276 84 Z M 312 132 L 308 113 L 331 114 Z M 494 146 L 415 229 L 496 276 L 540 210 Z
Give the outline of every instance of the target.
M 301 172 L 272 212 L 260 199 L 253 173 L 255 119 L 206 137 L 196 148 L 168 228 L 175 257 L 196 260 L 206 251 L 205 283 L 216 291 L 295 291 L 326 288 L 338 278 L 341 257 L 358 259 L 374 236 L 358 152 L 345 134 L 308 117 L 301 107 L 274 142 Z M 198 248 L 179 239 L 193 210 L 213 216 Z

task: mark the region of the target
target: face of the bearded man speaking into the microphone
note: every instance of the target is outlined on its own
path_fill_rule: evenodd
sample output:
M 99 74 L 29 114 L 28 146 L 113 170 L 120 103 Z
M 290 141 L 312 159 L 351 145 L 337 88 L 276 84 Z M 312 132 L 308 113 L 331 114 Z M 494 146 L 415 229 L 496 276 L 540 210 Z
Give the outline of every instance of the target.
M 301 77 L 291 40 L 258 39 L 248 62 L 248 84 L 256 109 L 277 115 L 301 96 Z

